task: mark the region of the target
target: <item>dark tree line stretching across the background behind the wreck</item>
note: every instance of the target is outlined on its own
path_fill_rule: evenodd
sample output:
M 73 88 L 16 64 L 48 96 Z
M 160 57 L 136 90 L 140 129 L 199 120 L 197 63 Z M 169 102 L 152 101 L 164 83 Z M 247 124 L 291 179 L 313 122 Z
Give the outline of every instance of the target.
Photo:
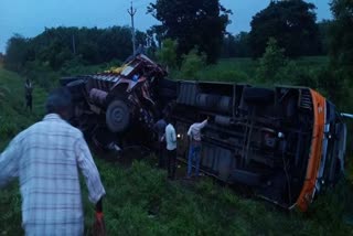
M 153 56 L 161 42 L 171 39 L 176 43 L 179 62 L 193 51 L 215 63 L 220 57 L 260 57 L 272 37 L 288 57 L 329 53 L 336 61 L 352 62 L 351 6 L 350 0 L 332 0 L 334 19 L 317 23 L 313 3 L 271 1 L 253 17 L 250 32 L 233 35 L 226 32 L 233 12 L 220 0 L 157 0 L 147 13 L 161 24 L 147 32 L 137 31 L 137 45 L 148 47 Z M 85 64 L 125 61 L 131 49 L 129 26 L 45 29 L 33 39 L 13 35 L 8 41 L 4 62 L 14 71 L 33 61 L 58 69 L 72 60 Z

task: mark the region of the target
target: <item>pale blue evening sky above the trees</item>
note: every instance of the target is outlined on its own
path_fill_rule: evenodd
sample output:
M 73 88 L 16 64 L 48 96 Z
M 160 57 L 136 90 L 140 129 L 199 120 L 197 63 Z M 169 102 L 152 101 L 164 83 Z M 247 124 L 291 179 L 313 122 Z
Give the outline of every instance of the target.
M 147 14 L 147 6 L 156 0 L 132 0 L 137 9 L 135 26 L 146 31 L 159 22 Z M 250 30 L 254 14 L 268 6 L 270 0 L 221 0 L 233 11 L 227 31 L 236 34 Z M 4 53 L 7 41 L 19 33 L 33 37 L 45 28 L 87 26 L 108 28 L 129 25 L 127 9 L 131 0 L 0 0 L 0 52 Z M 307 0 L 317 6 L 318 21 L 331 19 L 330 0 Z

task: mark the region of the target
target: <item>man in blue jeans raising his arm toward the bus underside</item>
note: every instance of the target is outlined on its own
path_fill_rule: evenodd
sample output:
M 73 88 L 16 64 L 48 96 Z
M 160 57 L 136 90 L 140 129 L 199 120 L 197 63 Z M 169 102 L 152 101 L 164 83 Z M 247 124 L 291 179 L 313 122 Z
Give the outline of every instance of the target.
M 188 136 L 190 140 L 188 158 L 188 179 L 191 178 L 192 164 L 195 162 L 195 176 L 200 171 L 200 152 L 201 152 L 201 130 L 207 125 L 208 118 L 202 122 L 195 122 L 190 126 Z

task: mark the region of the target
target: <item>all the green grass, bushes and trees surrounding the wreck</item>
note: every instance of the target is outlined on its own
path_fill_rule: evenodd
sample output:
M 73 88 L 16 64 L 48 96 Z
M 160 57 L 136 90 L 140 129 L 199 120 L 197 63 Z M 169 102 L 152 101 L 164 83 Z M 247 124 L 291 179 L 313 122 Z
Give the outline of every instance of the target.
M 212 65 L 205 65 L 205 61 L 215 62 L 221 53 L 231 13 L 220 1 L 158 0 L 149 12 L 163 26 L 146 34 L 138 32 L 137 39 L 138 43 L 150 45 L 152 53 L 156 51 L 152 39 L 176 40 L 164 41 L 157 51 L 157 58 L 170 67 L 172 78 L 309 86 L 325 95 L 340 110 L 353 112 L 353 95 L 349 93 L 353 87 L 352 9 L 350 0 L 332 0 L 334 19 L 315 24 L 311 3 L 271 1 L 254 17 L 250 34 L 242 32 L 224 37 L 222 55 L 226 58 Z M 207 17 L 212 21 L 205 20 Z M 313 46 L 314 42 L 324 50 Z M 18 132 L 43 117 L 46 93 L 57 86 L 60 76 L 90 74 L 120 65 L 130 49 L 130 30 L 126 26 L 57 28 L 46 29 L 33 39 L 18 34 L 11 37 L 4 66 L 17 73 L 2 68 L 0 54 L 0 150 Z M 245 57 L 252 51 L 259 60 Z M 322 52 L 329 52 L 330 57 L 302 57 Z M 243 58 L 229 58 L 234 55 Z M 24 110 L 21 96 L 24 77 L 34 81 L 33 112 Z M 352 133 L 353 124 L 349 126 Z M 349 144 L 353 140 L 350 135 L 349 138 L 346 179 L 350 182 L 343 180 L 330 187 L 306 214 L 280 211 L 207 178 L 195 183 L 170 182 L 165 171 L 154 168 L 153 157 L 126 168 L 105 162 L 98 159 L 101 153 L 96 153 L 107 190 L 104 212 L 108 235 L 353 235 L 353 150 Z M 86 235 L 90 235 L 94 208 L 86 191 L 83 199 Z M 17 183 L 0 190 L 0 235 L 22 235 Z

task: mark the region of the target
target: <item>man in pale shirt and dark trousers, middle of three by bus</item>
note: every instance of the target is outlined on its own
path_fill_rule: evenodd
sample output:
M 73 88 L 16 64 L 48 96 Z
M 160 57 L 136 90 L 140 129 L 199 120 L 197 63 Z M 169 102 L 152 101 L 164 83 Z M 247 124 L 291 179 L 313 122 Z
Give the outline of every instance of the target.
M 165 141 L 167 141 L 167 155 L 168 155 L 168 178 L 175 179 L 176 169 L 176 133 L 171 118 L 167 119 L 168 126 L 165 127 Z

